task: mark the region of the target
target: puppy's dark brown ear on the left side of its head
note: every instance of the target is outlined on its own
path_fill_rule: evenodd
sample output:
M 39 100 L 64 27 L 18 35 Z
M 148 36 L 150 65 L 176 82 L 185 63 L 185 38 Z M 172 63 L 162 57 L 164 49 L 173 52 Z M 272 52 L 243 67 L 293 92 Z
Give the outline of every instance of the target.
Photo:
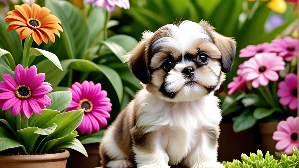
M 144 84 L 151 81 L 149 71 L 149 42 L 153 35 L 152 32 L 142 33 L 142 40 L 133 48 L 132 51 L 123 56 L 135 77 Z

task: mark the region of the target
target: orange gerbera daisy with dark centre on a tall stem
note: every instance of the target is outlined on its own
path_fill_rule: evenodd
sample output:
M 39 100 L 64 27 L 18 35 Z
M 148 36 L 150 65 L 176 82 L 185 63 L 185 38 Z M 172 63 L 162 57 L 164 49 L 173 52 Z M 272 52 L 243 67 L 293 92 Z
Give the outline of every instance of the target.
M 7 32 L 16 30 L 20 33 L 20 39 L 25 39 L 31 34 L 38 45 L 42 41 L 48 43 L 49 39 L 55 42 L 53 33 L 60 37 L 61 22 L 56 16 L 50 14 L 51 10 L 48 8 L 40 7 L 38 4 L 32 4 L 32 8 L 28 4 L 15 5 L 15 8 L 9 11 L 4 19 L 9 23 Z

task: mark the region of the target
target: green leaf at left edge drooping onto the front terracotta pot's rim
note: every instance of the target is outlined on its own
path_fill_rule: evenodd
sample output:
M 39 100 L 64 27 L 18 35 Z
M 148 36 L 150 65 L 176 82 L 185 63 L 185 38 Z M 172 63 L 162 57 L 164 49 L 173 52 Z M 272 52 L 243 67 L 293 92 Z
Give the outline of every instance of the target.
M 24 154 L 28 155 L 25 147 L 22 144 L 7 137 L 8 137 L 7 132 L 2 127 L 0 127 L 0 151 L 19 147 L 22 149 Z

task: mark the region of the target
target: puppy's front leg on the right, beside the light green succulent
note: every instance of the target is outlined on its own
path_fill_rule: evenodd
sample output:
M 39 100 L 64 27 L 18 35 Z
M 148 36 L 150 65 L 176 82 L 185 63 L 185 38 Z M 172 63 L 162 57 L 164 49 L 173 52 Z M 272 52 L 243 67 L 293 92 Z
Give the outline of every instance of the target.
M 224 168 L 217 162 L 219 129 L 204 129 L 196 137 L 184 163 L 191 168 Z

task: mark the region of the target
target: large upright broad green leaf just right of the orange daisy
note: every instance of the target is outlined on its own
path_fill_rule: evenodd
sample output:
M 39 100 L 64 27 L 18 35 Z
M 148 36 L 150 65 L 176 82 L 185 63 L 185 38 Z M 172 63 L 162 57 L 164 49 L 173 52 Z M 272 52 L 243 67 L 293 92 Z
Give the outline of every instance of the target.
M 89 28 L 80 10 L 68 1 L 57 0 L 46 0 L 45 7 L 62 22 L 61 39 L 56 40 L 62 40 L 65 47 L 56 51 L 56 55 L 66 50 L 68 58 L 84 58 L 89 42 Z

